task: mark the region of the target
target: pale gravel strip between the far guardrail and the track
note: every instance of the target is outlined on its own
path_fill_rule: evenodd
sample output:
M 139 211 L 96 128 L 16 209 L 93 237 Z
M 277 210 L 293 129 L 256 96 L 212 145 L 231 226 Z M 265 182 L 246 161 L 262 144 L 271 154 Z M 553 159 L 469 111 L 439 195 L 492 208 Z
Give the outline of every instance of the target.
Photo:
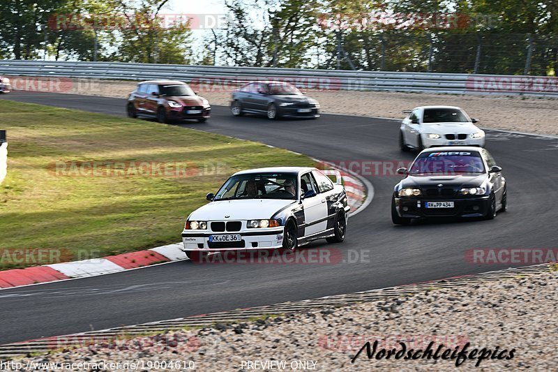
M 135 89 L 136 84 L 112 80 L 71 80 L 62 84 L 62 89 L 56 92 L 123 98 Z M 31 84 L 31 87 L 34 86 Z M 45 84 L 45 87 L 48 86 L 50 84 Z M 230 92 L 231 89 L 220 86 L 199 88 L 199 95 L 213 105 L 229 105 Z M 402 110 L 416 106 L 456 105 L 465 109 L 471 117 L 480 119 L 478 125 L 483 128 L 558 135 L 558 126 L 549 119 L 555 116 L 558 98 L 331 90 L 308 90 L 307 94 L 317 99 L 322 105 L 322 112 L 326 113 L 402 119 Z

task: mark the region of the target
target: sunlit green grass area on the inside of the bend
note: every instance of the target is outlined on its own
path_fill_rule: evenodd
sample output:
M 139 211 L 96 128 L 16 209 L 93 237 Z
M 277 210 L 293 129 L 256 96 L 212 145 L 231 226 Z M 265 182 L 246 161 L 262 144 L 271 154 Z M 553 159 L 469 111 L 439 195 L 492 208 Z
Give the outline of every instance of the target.
M 153 121 L 10 101 L 0 101 L 0 112 L 9 144 L 8 176 L 0 185 L 0 269 L 59 260 L 15 262 L 12 250 L 48 249 L 77 260 L 176 243 L 190 211 L 233 172 L 314 165 L 264 144 Z M 188 175 L 55 172 L 56 162 L 73 161 L 179 162 Z

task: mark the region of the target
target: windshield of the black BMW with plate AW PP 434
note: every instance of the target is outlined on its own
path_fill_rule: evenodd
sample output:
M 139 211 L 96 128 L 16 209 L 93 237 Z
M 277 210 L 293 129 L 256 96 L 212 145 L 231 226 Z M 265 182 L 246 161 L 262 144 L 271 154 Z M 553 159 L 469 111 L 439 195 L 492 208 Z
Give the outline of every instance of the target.
M 476 151 L 427 152 L 416 158 L 409 174 L 463 174 L 485 172 L 483 158 Z

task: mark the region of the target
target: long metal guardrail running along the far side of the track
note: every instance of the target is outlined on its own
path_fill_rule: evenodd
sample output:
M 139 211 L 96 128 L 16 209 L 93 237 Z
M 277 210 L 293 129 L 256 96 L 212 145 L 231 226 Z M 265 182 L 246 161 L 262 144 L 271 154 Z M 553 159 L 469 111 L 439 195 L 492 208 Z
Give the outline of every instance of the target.
M 519 75 L 20 60 L 0 61 L 0 75 L 82 77 L 107 80 L 169 79 L 197 84 L 236 84 L 236 86 L 252 80 L 285 80 L 305 89 L 322 90 L 558 96 L 558 78 Z M 17 86 L 13 88 L 17 89 Z

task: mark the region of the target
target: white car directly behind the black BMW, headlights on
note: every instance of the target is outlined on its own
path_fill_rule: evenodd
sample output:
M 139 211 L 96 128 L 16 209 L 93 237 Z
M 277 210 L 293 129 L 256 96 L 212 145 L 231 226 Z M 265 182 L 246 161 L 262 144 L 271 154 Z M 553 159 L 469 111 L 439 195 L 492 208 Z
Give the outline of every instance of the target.
M 399 146 L 402 151 L 437 146 L 484 147 L 485 133 L 467 112 L 455 106 L 421 106 L 405 111 Z

